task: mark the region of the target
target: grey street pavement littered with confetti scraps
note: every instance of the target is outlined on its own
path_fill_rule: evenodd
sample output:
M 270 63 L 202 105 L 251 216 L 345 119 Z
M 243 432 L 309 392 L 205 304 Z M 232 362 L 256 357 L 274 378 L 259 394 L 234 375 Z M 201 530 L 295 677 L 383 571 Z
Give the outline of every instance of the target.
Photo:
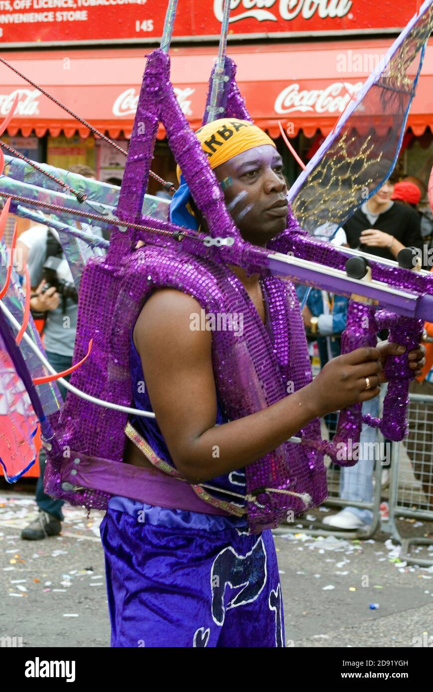
M 35 514 L 32 486 L 0 487 L 0 637 L 22 637 L 26 647 L 109 646 L 104 513 L 88 518 L 66 506 L 61 536 L 21 540 Z M 432 523 L 414 525 L 418 536 L 432 533 Z M 433 567 L 399 561 L 389 534 L 312 538 L 299 527 L 299 534 L 275 536 L 275 545 L 286 646 L 433 647 Z M 433 561 L 433 546 L 423 555 Z

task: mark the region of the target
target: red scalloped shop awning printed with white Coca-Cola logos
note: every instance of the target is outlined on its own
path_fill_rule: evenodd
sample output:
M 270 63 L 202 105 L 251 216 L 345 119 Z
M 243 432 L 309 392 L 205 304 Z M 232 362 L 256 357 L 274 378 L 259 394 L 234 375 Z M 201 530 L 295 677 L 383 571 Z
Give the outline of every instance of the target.
M 386 53 L 392 39 L 344 40 L 297 44 L 230 46 L 238 66 L 237 79 L 246 105 L 257 125 L 279 135 L 278 120 L 291 123 L 289 134 L 300 129 L 313 136 L 328 134 L 349 102 L 349 93 L 365 81 Z M 67 55 L 66 55 L 67 53 Z M 144 48 L 79 49 L 2 53 L 3 57 L 36 84 L 112 138 L 122 131 L 131 136 L 138 101 Z M 215 46 L 176 48 L 171 51 L 172 81 L 181 108 L 192 127 L 199 127 Z M 62 131 L 82 137 L 89 130 L 55 103 L 0 64 L 0 116 L 6 115 L 19 93 L 17 116 L 8 127 L 15 136 L 34 130 L 37 136 Z M 421 135 L 433 129 L 433 39 L 427 47 L 409 127 Z M 160 127 L 159 138 L 165 132 Z

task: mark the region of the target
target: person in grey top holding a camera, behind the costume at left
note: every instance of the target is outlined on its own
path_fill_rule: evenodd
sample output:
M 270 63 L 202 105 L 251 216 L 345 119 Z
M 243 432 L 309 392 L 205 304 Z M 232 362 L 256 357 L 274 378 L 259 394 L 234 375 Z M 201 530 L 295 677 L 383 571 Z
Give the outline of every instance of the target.
M 89 166 L 76 165 L 69 170 L 86 178 L 96 177 Z M 92 233 L 95 233 L 94 228 Z M 73 358 L 78 298 L 59 235 L 53 228 L 39 224 L 32 226 L 19 236 L 17 251 L 24 260 L 21 266 L 26 264 L 30 275 L 32 315 L 36 320 L 43 320 L 46 357 L 56 372 L 68 370 Z M 68 381 L 69 377 L 64 379 Z M 58 381 L 57 386 L 65 399 L 66 389 Z M 37 518 L 21 531 L 21 538 L 27 540 L 58 536 L 62 530 L 63 501 L 50 498 L 44 492 L 45 462 L 46 453 L 42 447 L 35 494 L 39 512 Z

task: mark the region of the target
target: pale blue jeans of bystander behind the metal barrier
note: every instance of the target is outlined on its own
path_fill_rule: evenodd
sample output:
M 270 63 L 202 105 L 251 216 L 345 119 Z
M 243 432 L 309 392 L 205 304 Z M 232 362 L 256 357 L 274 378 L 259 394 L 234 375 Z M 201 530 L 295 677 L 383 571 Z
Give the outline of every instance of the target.
M 377 417 L 379 414 L 379 397 L 362 404 L 362 415 Z M 369 443 L 378 441 L 377 428 L 370 428 L 365 423 L 362 424 L 360 435 L 360 454 L 359 461 L 355 466 L 344 466 L 340 473 L 340 498 L 342 500 L 354 500 L 356 502 L 373 502 L 373 469 L 374 455 L 366 454 L 369 450 Z M 367 457 L 367 458 L 365 458 Z M 373 521 L 373 512 L 369 509 L 359 509 L 358 507 L 345 507 L 351 511 L 365 524 Z

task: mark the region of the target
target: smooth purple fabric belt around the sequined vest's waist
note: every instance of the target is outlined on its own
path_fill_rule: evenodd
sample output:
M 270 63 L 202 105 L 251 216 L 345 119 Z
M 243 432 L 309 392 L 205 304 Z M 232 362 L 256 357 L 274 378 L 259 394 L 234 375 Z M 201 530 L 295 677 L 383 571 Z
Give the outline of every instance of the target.
M 64 465 L 62 484 L 64 482 L 157 507 L 231 516 L 198 498 L 185 481 L 152 468 L 87 457 L 80 452 L 71 452 L 71 459 Z

